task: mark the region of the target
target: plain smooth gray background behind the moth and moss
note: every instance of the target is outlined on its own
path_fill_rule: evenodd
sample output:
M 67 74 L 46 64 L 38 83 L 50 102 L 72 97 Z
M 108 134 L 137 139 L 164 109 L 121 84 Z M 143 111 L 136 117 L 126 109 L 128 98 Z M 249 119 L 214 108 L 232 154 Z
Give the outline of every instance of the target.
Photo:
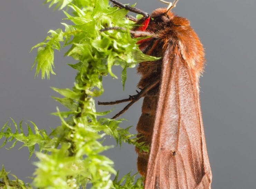
M 31 46 L 41 42 L 49 29 L 62 27 L 61 11 L 42 5 L 41 0 L 0 1 L 0 125 L 9 117 L 17 122 L 32 120 L 49 131 L 60 124 L 50 115 L 61 107 L 51 99 L 56 95 L 50 86 L 72 87 L 75 71 L 66 63 L 63 52 L 55 54 L 55 72 L 50 80 L 34 79 L 30 72 L 36 51 Z M 137 3 L 147 12 L 165 5 L 157 0 L 127 0 Z M 212 188 L 255 188 L 256 179 L 256 36 L 255 0 L 181 0 L 174 12 L 188 18 L 206 50 L 207 65 L 200 80 L 201 106 L 207 148 L 212 168 Z M 120 69 L 114 71 L 119 74 Z M 125 91 L 120 80 L 106 77 L 102 101 L 112 101 L 135 94 L 139 76 L 135 69 L 128 71 Z M 133 105 L 122 117 L 129 120 L 123 127 L 136 126 L 141 103 Z M 114 113 L 123 105 L 115 107 Z M 62 108 L 62 107 L 61 107 Z M 98 107 L 98 111 L 110 107 Z M 113 113 L 113 114 L 114 114 Z M 111 116 L 111 115 L 110 115 Z M 135 132 L 135 127 L 132 130 Z M 2 140 L 0 141 L 2 143 Z M 108 144 L 115 144 L 108 140 Z M 115 169 L 124 175 L 136 171 L 136 154 L 133 147 L 123 145 L 119 150 L 106 152 L 115 161 Z M 18 151 L 0 149 L 0 164 L 21 179 L 30 181 L 35 158 L 28 161 L 26 148 Z

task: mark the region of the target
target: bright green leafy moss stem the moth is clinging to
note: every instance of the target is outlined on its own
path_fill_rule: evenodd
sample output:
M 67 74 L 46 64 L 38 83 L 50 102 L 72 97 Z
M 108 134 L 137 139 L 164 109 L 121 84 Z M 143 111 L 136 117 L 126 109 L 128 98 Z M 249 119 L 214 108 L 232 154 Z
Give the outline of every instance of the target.
M 50 30 L 45 40 L 35 45 L 37 57 L 32 67 L 36 67 L 36 75 L 48 79 L 54 73 L 54 51 L 68 46 L 66 56 L 74 59 L 69 64 L 77 70 L 74 87 L 71 89 L 53 88 L 63 98 L 53 97 L 63 104 L 68 111 L 53 113 L 58 116 L 61 126 L 53 129 L 50 134 L 39 130 L 34 123 L 27 124 L 28 135 L 23 133 L 13 120 L 15 133 L 11 132 L 11 125 L 4 125 L 0 132 L 0 139 L 6 138 L 2 146 L 8 141 L 17 141 L 28 147 L 29 157 L 34 153 L 35 145 L 39 145 L 36 152 L 38 161 L 34 172 L 33 185 L 39 188 L 86 188 L 91 183 L 92 188 L 142 188 L 143 179 L 135 181 L 135 175 L 125 175 L 120 181 L 117 177 L 112 181 L 111 175 L 116 174 L 114 162 L 101 155 L 113 146 L 104 146 L 104 135 L 115 138 L 118 145 L 123 142 L 148 151 L 143 143 L 138 143 L 136 135 L 129 133 L 129 128 L 122 129 L 118 125 L 122 120 L 98 118 L 108 112 L 97 112 L 94 97 L 102 95 L 104 88 L 102 80 L 112 72 L 112 66 L 121 66 L 123 72 L 121 80 L 123 87 L 126 80 L 126 69 L 135 67 L 143 61 L 157 60 L 155 57 L 144 55 L 136 44 L 139 39 L 133 39 L 130 30 L 133 22 L 126 19 L 128 11 L 111 7 L 108 0 L 47 0 L 49 7 L 66 9 L 66 19 L 73 24 L 62 23 L 65 29 Z M 73 3 L 73 4 L 72 4 Z M 71 12 L 71 13 L 68 13 Z M 68 22 L 70 23 L 70 22 Z M 100 32 L 106 27 L 123 27 L 126 30 L 109 30 Z M 135 163 L 135 162 L 134 162 Z M 127 171 L 128 172 L 128 171 Z M 3 169 L 0 175 L 1 186 L 12 185 L 30 187 L 18 180 L 10 180 Z M 19 188 L 17 187 L 17 188 Z

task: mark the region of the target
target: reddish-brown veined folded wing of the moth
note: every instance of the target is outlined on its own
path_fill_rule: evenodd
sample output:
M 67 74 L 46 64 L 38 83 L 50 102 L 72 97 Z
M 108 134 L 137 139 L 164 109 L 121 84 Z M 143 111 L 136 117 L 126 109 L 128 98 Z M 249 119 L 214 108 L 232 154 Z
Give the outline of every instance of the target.
M 196 73 L 178 46 L 163 57 L 145 189 L 210 188 Z

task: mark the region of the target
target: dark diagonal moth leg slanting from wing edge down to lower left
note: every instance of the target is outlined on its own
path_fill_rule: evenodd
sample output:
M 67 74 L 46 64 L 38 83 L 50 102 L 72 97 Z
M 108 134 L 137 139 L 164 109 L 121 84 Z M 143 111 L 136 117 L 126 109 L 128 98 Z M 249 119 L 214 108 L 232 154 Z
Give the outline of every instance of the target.
M 149 90 L 151 90 L 155 85 L 157 85 L 159 83 L 160 79 L 150 83 L 149 85 L 147 85 L 145 88 L 143 88 L 141 90 L 141 92 L 139 92 L 137 95 L 134 95 L 134 97 L 132 98 L 132 102 L 130 102 L 129 104 L 127 104 L 124 109 L 122 109 L 119 113 L 117 113 L 114 117 L 112 117 L 112 119 L 115 119 L 117 117 L 119 117 L 121 114 L 123 114 L 127 109 L 129 109 L 135 102 L 137 102 L 141 97 L 143 97 Z

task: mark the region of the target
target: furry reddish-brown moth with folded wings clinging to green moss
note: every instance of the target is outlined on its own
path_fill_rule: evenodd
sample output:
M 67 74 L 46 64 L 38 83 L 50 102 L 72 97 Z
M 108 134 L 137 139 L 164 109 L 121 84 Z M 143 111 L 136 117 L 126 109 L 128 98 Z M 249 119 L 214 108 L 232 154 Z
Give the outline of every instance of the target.
M 203 46 L 186 18 L 171 12 L 178 0 L 168 8 L 154 10 L 151 15 L 135 7 L 110 0 L 119 8 L 142 14 L 131 31 L 134 37 L 150 36 L 139 41 L 144 54 L 162 57 L 138 66 L 141 79 L 137 95 L 111 105 L 130 103 L 113 118 L 124 113 L 144 97 L 137 131 L 140 142 L 150 145 L 149 153 L 138 153 L 138 170 L 145 177 L 145 189 L 208 189 L 211 185 L 202 115 L 199 101 L 199 76 L 203 72 Z M 105 28 L 102 31 L 109 29 Z M 120 28 L 119 28 L 120 29 Z

